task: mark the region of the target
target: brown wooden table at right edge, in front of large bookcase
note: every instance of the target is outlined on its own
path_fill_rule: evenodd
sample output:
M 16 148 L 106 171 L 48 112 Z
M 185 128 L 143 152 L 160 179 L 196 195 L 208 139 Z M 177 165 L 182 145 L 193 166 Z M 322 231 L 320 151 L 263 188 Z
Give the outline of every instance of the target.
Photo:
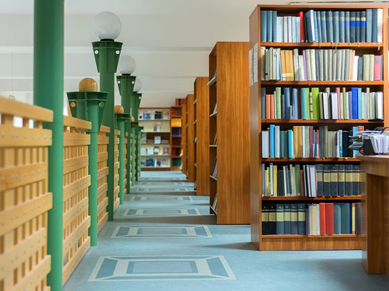
M 389 156 L 361 159 L 362 265 L 367 274 L 389 275 Z

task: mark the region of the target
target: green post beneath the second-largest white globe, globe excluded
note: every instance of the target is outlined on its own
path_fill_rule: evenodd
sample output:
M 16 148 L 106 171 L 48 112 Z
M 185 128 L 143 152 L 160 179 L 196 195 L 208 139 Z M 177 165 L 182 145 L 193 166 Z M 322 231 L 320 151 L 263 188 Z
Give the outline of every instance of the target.
M 119 87 L 120 96 L 122 97 L 122 106 L 124 113 L 131 115 L 131 96 L 133 95 L 133 87 L 135 85 L 135 76 L 123 74 L 122 76 L 116 76 L 117 86 Z M 131 184 L 131 143 L 130 143 L 130 134 L 131 134 L 131 124 L 128 122 L 126 124 L 126 132 L 129 133 L 129 139 L 127 141 L 127 193 L 130 193 L 130 184 Z

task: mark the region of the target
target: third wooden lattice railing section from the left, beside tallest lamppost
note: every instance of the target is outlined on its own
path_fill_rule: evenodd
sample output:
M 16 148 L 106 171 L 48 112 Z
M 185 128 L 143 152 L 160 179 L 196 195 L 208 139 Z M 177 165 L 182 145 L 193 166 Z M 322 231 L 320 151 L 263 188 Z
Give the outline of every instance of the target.
M 110 132 L 110 127 L 101 125 L 100 132 L 97 134 L 97 231 L 101 231 L 108 221 L 107 146 L 109 137 L 106 135 L 108 132 Z

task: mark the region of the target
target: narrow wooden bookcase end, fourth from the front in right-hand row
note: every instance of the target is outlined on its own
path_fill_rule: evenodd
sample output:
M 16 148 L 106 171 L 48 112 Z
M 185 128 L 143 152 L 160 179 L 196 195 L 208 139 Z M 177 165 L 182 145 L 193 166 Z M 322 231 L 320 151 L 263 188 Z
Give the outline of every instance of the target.
M 195 96 L 193 94 L 188 94 L 186 96 L 186 124 L 188 125 L 186 132 L 187 139 L 187 164 L 186 164 L 186 173 L 188 176 L 188 182 L 195 182 L 195 105 L 193 102 L 195 101 Z

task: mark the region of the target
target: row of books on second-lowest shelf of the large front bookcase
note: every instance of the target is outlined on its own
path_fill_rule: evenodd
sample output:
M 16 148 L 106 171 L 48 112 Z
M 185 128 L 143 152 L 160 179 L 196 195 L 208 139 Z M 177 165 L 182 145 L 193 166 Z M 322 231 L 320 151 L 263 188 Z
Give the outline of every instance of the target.
M 262 196 L 358 196 L 360 172 L 360 166 L 355 164 L 262 164 Z

